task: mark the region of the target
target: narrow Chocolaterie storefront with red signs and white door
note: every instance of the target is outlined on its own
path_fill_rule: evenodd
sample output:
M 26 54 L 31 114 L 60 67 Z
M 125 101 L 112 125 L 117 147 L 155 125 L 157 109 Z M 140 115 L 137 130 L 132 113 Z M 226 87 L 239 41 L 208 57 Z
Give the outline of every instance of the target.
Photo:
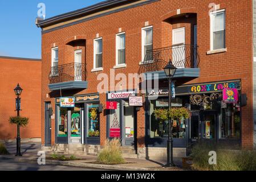
M 136 91 L 107 93 L 107 137 L 120 138 L 122 146 L 136 146 L 137 110 L 129 106 L 129 97 Z

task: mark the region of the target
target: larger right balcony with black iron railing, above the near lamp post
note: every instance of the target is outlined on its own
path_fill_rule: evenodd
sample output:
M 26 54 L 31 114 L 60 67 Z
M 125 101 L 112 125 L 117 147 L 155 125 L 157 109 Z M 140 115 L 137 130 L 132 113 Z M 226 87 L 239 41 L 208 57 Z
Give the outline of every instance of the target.
M 159 73 L 159 79 L 166 78 L 163 68 L 169 61 L 178 68 L 174 78 L 200 75 L 198 46 L 184 44 L 147 51 L 139 73 L 146 73 L 147 79 L 151 79 L 148 73 Z

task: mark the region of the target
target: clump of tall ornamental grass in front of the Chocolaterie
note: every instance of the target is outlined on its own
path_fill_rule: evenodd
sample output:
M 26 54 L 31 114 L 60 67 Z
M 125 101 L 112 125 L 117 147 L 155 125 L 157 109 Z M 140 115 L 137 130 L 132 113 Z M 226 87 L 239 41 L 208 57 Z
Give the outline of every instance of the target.
M 120 139 L 105 140 L 104 148 L 97 156 L 97 162 L 102 164 L 123 164 L 125 160 L 121 152 Z

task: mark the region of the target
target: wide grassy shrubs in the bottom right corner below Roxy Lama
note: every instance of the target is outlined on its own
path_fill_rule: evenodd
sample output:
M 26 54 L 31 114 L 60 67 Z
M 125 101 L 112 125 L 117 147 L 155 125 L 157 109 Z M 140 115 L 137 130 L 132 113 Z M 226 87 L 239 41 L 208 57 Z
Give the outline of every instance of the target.
M 210 165 L 209 151 L 216 151 L 217 164 Z M 224 146 L 198 143 L 192 148 L 192 169 L 200 171 L 255 171 L 256 151 L 226 150 Z

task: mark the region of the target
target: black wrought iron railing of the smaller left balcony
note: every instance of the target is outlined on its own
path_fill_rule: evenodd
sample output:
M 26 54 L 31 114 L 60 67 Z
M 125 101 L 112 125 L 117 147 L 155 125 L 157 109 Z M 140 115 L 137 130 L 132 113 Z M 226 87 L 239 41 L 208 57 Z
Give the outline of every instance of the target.
M 86 64 L 70 63 L 51 67 L 50 84 L 68 81 L 86 81 Z

